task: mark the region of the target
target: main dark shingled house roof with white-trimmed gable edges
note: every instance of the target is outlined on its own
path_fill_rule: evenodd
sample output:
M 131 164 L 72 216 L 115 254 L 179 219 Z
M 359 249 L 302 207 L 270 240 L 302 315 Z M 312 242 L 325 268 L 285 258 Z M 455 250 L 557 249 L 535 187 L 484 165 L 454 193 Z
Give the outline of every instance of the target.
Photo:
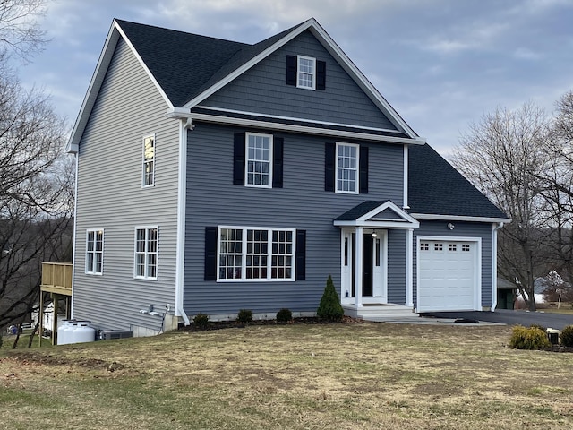
M 115 19 L 73 126 L 68 150 L 77 151 L 120 38 L 125 40 L 149 74 L 173 116 L 189 117 L 192 107 L 305 30 L 312 32 L 372 102 L 397 126 L 398 131 L 406 135 L 406 139 L 423 142 L 313 18 L 254 45 Z

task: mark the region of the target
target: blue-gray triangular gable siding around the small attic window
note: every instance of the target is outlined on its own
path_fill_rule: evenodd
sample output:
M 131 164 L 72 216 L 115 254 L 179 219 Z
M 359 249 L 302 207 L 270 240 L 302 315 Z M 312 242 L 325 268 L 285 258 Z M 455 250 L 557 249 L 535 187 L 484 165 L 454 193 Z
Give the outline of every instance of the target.
M 326 90 L 286 85 L 287 55 L 325 61 Z M 201 106 L 397 130 L 308 30 L 201 102 Z

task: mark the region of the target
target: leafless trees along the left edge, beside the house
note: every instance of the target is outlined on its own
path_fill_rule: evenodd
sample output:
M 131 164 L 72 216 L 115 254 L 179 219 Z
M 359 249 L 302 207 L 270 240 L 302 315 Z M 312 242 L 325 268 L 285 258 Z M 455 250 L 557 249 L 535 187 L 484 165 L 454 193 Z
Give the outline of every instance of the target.
M 64 119 L 49 98 L 25 90 L 8 63 L 45 43 L 44 0 L 0 0 L 0 327 L 38 303 L 41 262 L 70 260 L 73 160 Z

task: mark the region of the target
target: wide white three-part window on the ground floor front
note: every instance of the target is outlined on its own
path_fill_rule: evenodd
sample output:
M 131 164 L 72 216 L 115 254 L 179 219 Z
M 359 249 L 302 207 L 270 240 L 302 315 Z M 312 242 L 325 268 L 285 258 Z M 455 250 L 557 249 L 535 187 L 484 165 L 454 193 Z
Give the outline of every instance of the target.
M 218 280 L 295 280 L 295 229 L 218 228 Z

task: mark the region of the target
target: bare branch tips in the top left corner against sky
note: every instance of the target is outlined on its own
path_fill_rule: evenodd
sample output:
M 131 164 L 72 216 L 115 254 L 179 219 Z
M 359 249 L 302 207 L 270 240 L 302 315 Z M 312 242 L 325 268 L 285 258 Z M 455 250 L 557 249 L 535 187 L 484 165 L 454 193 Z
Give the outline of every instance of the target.
M 46 0 L 0 0 L 0 54 L 8 49 L 23 59 L 46 43 L 38 18 L 46 13 Z

